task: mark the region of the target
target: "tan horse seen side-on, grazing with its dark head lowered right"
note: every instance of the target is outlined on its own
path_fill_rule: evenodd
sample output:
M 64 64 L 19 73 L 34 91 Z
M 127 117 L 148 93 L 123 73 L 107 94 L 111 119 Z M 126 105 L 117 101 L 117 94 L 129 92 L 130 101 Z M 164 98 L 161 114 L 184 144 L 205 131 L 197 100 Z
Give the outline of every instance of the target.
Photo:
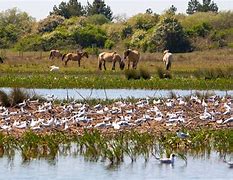
M 112 62 L 112 70 L 115 70 L 116 62 L 119 63 L 120 69 L 123 70 L 125 67 L 124 61 L 122 61 L 121 56 L 116 52 L 102 52 L 98 57 L 99 70 L 102 70 L 102 65 L 104 66 L 104 70 L 106 70 L 105 63 Z

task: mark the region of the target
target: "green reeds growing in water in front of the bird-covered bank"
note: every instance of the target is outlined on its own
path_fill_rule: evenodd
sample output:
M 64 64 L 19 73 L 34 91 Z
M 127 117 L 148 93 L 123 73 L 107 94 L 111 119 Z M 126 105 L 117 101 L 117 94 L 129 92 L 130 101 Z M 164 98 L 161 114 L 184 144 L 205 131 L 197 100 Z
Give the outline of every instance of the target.
M 41 158 L 51 161 L 58 155 L 80 155 L 87 161 L 106 161 L 110 165 L 117 165 L 126 156 L 131 162 L 138 157 L 143 157 L 147 162 L 153 157 L 176 153 L 187 161 L 187 153 L 200 156 L 216 151 L 220 157 L 233 153 L 232 129 L 189 130 L 189 134 L 189 138 L 180 139 L 171 132 L 155 134 L 133 130 L 118 133 L 85 130 L 82 135 L 61 132 L 42 135 L 28 131 L 21 137 L 0 133 L 0 157 L 13 159 L 15 152 L 19 151 L 23 162 L 27 162 Z

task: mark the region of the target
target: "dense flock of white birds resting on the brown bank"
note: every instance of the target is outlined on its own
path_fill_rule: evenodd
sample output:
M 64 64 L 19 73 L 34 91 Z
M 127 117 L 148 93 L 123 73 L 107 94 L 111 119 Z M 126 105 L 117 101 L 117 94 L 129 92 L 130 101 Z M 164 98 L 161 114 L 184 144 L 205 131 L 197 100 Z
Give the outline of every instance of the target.
M 71 102 L 54 104 L 25 100 L 15 107 L 0 106 L 0 131 L 23 132 L 54 130 L 76 131 L 78 128 L 115 129 L 145 126 L 179 127 L 206 124 L 231 126 L 231 97 L 210 96 L 201 99 L 177 97 L 139 99 L 137 102 L 117 101 L 109 105 Z M 145 125 L 145 126 L 144 126 Z M 177 133 L 182 137 L 181 133 Z

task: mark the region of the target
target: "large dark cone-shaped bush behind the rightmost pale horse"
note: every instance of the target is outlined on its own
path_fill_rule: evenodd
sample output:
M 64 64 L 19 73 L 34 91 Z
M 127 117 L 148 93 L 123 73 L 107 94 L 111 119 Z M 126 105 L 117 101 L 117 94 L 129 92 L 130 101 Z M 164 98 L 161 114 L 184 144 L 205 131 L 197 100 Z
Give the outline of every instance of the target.
M 191 49 L 181 24 L 174 17 L 165 17 L 160 20 L 149 44 L 154 51 L 169 49 L 171 52 L 186 52 Z

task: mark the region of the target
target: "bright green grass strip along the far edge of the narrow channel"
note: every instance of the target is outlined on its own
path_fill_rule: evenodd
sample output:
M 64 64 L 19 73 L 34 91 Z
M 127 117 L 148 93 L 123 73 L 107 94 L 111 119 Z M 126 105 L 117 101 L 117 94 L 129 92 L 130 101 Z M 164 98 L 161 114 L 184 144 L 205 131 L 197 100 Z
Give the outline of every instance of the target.
M 127 80 L 116 76 L 74 76 L 74 75 L 25 75 L 0 76 L 1 87 L 24 88 L 141 88 L 141 89 L 219 89 L 232 90 L 232 78 L 219 78 L 212 80 L 196 78 L 174 78 L 150 80 Z

